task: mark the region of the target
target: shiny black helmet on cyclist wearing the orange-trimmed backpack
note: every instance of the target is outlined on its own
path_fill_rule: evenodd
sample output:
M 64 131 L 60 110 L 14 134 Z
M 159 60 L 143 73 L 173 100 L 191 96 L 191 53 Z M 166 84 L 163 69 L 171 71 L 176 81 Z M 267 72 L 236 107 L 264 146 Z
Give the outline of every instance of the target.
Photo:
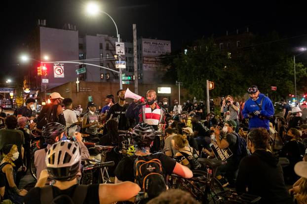
M 153 126 L 139 123 L 132 132 L 132 139 L 139 147 L 148 147 L 155 137 Z

